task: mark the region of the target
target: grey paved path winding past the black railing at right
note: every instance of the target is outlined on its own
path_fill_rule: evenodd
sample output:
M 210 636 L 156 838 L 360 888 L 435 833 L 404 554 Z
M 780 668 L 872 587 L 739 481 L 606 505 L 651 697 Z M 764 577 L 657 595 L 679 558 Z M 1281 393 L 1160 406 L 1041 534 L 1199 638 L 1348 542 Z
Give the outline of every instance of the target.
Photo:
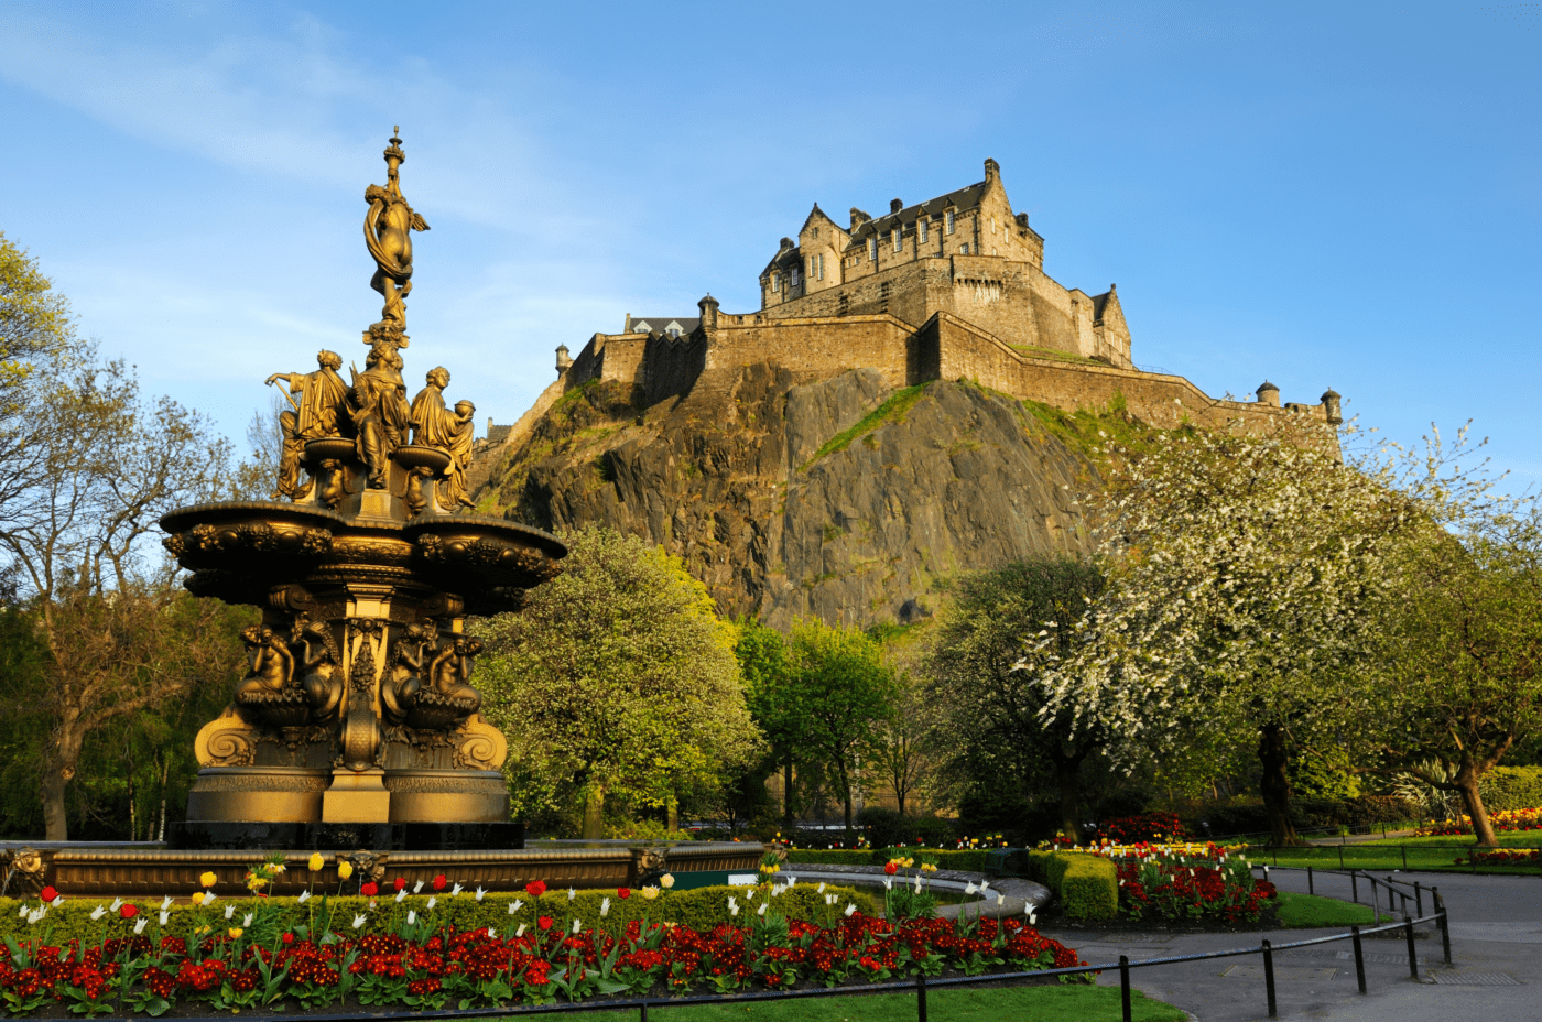
M 785 869 L 794 876 L 876 874 L 876 866 L 810 866 Z M 828 874 L 828 876 L 825 876 Z M 938 871 L 939 880 L 978 882 L 981 874 Z M 1388 876 L 1385 871 L 1377 876 Z M 1366 937 L 1366 987 L 1360 996 L 1354 953 L 1348 940 L 1275 954 L 1275 993 L 1281 1019 L 1332 1019 L 1334 1022 L 1466 1022 L 1493 1017 L 1542 1019 L 1542 877 L 1483 877 L 1443 872 L 1394 872 L 1399 880 L 1436 885 L 1446 899 L 1451 920 L 1453 965 L 1442 960 L 1440 939 L 1433 928 L 1417 939 L 1422 982 L 1408 976 L 1408 945 L 1402 934 Z M 1306 874 L 1272 869 L 1269 879 L 1283 891 L 1306 893 Z M 1018 885 L 1027 885 L 1019 889 Z M 1351 897 L 1348 876 L 1317 872 L 1317 894 Z M 993 880 L 992 888 L 1008 894 L 1007 905 L 1021 914 L 1025 900 L 1041 903 L 1039 885 L 1027 880 Z M 1032 888 L 1038 888 L 1033 891 Z M 1362 900 L 1369 900 L 1360 883 Z M 959 906 L 951 908 L 956 914 Z M 973 911 L 975 906 L 968 906 Z M 985 914 L 995 908 L 985 903 Z M 1433 913 L 1426 899 L 1425 911 Z M 941 914 L 941 913 L 939 913 Z M 1178 954 L 1203 954 L 1232 948 L 1257 948 L 1264 939 L 1291 943 L 1342 933 L 1334 930 L 1277 930 L 1246 934 L 1098 933 L 1069 926 L 1041 926 L 1086 962 L 1116 962 Z M 1268 1017 L 1263 960 L 1260 956 L 1210 959 L 1136 968 L 1133 985 L 1158 1000 L 1175 1004 L 1200 1022 L 1252 1022 Z M 1116 987 L 1118 971 L 1098 977 Z

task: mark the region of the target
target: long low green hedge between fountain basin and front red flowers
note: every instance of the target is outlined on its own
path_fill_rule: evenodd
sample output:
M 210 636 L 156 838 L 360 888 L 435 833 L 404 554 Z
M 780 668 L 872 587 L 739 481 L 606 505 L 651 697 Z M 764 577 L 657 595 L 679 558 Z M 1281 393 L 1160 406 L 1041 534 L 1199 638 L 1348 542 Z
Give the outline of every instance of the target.
M 808 920 L 823 920 L 831 917 L 833 913 L 843 909 L 848 902 L 856 903 L 857 909 L 868 916 L 877 916 L 882 913 L 882 905 L 877 899 L 865 891 L 847 886 L 827 886 L 825 893 L 840 896 L 840 902 L 836 908 L 825 905 L 825 899 L 819 894 L 817 885 L 814 883 L 799 883 L 790 891 L 783 891 L 776 897 L 773 905 L 776 911 L 782 913 L 788 919 Z M 520 923 L 526 923 L 534 928 L 540 916 L 550 916 L 557 925 L 563 925 L 566 922 L 569 926 L 574 919 L 580 919 L 583 920 L 586 930 L 598 926 L 609 933 L 620 933 L 631 920 L 641 920 L 645 917 L 649 922 L 672 922 L 705 933 L 719 923 L 734 922 L 734 919 L 728 914 L 729 894 L 732 894 L 742 906 L 737 919 L 740 923 L 746 922 L 746 909 L 743 906 L 748 905 L 748 911 L 752 913 L 759 905 L 757 899 L 763 897 L 763 894 L 756 893 L 756 899 L 749 899 L 749 888 L 743 886 L 711 886 L 694 888 L 691 891 L 663 891 L 652 902 L 645 899 L 637 891 L 634 891 L 629 899 L 623 900 L 617 897 L 614 889 L 578 891 L 572 902 L 567 900 L 566 891 L 547 891 L 538 899 L 524 897 L 521 894 L 487 894 L 481 902 L 478 902 L 469 891 L 463 891 L 458 897 L 450 897 L 446 893 L 438 896 L 433 909 L 427 908 L 429 896 L 426 894 L 409 896 L 401 902 L 398 902 L 393 896 L 375 897 L 373 900 L 376 908 L 373 911 L 369 908 L 370 899 L 365 897 L 328 897 L 327 900 L 333 911 L 332 928 L 338 933 L 353 933 L 352 922 L 355 914 L 369 916 L 369 920 L 358 931 L 359 934 L 392 933 L 407 920 L 409 911 L 415 911 L 419 916 L 427 913 L 427 917 L 433 919 L 441 926 L 455 926 L 461 931 L 492 926 L 500 934 L 513 933 Z M 611 899 L 611 911 L 604 919 L 601 919 L 600 905 L 604 897 Z M 524 905 L 510 916 L 509 906 L 517 900 L 524 902 Z M 293 897 L 262 899 L 262 902 L 278 905 L 284 909 L 282 923 L 287 928 L 310 925 L 310 920 L 322 911 L 321 896 L 311 897 L 304 905 Z M 51 930 L 51 933 L 48 933 L 51 943 L 77 937 L 96 943 L 108 936 L 125 936 L 133 933 L 133 922 L 122 920 L 116 914 L 108 914 L 100 922 L 91 919 L 91 911 L 96 909 L 97 905 L 109 905 L 111 899 L 66 897 L 63 905 L 48 909 L 48 916 L 35 926 L 28 926 L 26 920 L 20 917 L 19 909 L 22 903 L 23 902 L 15 899 L 0 899 L 0 937 L 42 937 Z M 35 908 L 37 899 L 26 903 Z M 137 905 L 140 913 L 150 919 L 150 923 L 145 928 L 146 934 L 154 936 L 163 933 L 173 937 L 187 937 L 200 925 L 213 925 L 214 928 L 239 926 L 242 916 L 253 911 L 258 900 L 250 897 L 221 897 L 210 908 L 173 905 L 163 931 L 157 925 L 157 909 L 160 908 L 160 902 L 134 900 L 133 903 Z M 227 905 L 236 905 L 234 919 L 228 922 L 225 920 Z

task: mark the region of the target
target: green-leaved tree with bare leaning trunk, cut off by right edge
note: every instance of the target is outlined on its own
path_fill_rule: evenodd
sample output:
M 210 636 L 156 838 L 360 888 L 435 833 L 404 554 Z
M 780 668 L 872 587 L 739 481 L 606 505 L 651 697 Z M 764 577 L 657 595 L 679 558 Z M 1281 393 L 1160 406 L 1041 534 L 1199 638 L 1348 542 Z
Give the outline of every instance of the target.
M 1399 561 L 1388 765 L 1459 792 L 1477 843 L 1493 846 L 1479 783 L 1542 724 L 1542 509 L 1500 501 L 1443 524 Z

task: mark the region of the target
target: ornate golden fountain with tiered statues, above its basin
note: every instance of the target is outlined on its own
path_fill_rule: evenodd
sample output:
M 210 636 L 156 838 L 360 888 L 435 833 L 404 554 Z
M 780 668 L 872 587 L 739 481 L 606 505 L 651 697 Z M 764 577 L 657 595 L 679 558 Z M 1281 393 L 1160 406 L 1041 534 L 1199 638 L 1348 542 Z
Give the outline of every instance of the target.
M 563 544 L 466 513 L 475 405 L 446 405 L 450 373 L 407 399 L 402 350 L 412 231 L 401 139 L 365 191 L 364 239 L 386 298 L 364 370 L 321 351 L 274 373 L 290 402 L 274 501 L 199 504 L 162 518 L 200 597 L 262 609 L 250 669 L 197 735 L 183 848 L 518 848 L 503 734 L 470 684 L 467 614 L 520 607 L 557 575 Z

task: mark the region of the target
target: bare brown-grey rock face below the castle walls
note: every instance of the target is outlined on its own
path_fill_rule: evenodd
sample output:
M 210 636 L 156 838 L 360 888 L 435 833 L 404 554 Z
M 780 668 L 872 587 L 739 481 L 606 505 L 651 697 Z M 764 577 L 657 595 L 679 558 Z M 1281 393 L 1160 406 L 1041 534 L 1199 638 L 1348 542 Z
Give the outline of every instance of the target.
M 1090 462 L 1007 396 L 765 364 L 651 408 L 634 393 L 564 395 L 492 472 L 483 509 L 646 536 L 722 612 L 776 627 L 908 623 L 948 575 L 1084 543 L 1073 493 Z

